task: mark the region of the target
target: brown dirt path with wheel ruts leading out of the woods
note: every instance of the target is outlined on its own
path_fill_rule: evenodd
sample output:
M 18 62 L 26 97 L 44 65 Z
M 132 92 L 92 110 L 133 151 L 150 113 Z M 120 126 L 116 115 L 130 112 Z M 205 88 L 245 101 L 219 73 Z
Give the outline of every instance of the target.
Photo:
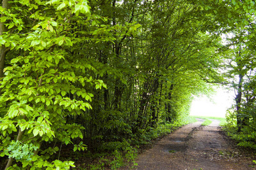
M 255 169 L 252 158 L 225 139 L 218 120 L 206 127 L 202 122 L 185 125 L 141 153 L 136 169 Z

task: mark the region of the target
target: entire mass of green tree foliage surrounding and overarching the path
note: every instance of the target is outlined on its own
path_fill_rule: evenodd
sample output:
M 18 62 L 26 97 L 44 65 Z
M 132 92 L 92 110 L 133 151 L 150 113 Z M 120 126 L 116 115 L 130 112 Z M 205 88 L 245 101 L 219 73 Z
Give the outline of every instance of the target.
M 63 145 L 75 155 L 115 157 L 102 157 L 100 167 L 124 166 L 134 161 L 132 146 L 186 124 L 193 96 L 235 75 L 243 81 L 230 83 L 243 91 L 236 118 L 242 131 L 254 132 L 253 9 L 253 1 L 236 0 L 3 0 L 6 167 L 74 167 L 60 157 Z M 221 45 L 228 32 L 236 48 Z

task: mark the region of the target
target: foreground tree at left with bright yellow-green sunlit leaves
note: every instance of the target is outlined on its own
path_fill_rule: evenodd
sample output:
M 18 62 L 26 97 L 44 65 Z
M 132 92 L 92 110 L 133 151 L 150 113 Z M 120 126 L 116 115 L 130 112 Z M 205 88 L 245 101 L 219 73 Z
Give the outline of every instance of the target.
M 74 167 L 72 161 L 49 160 L 49 155 L 62 144 L 86 149 L 83 141 L 72 143 L 83 139 L 83 126 L 67 118 L 92 109 L 90 90 L 106 87 L 90 76 L 95 71 L 90 64 L 72 55 L 73 46 L 84 41 L 77 36 L 79 27 L 97 20 L 89 8 L 86 1 L 12 1 L 9 10 L 1 8 L 1 26 L 6 21 L 9 29 L 1 34 L 1 50 L 12 50 L 0 87 L 0 150 L 1 157 L 9 157 L 6 169 L 17 166 L 13 160 L 34 169 Z M 42 147 L 45 142 L 60 143 L 60 148 Z

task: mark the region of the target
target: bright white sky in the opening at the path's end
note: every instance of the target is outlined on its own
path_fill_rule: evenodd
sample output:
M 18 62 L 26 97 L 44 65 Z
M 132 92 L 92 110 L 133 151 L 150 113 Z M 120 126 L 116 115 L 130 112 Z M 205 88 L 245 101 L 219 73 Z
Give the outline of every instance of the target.
M 204 117 L 225 117 L 226 110 L 231 107 L 234 92 L 218 88 L 211 99 L 206 96 L 195 97 L 192 102 L 190 115 Z

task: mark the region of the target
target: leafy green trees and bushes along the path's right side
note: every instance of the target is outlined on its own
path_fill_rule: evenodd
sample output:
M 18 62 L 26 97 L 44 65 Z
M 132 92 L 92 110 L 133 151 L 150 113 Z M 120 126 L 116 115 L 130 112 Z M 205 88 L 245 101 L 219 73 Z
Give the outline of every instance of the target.
M 227 36 L 223 62 L 227 82 L 236 92 L 234 106 L 228 110 L 225 130 L 239 142 L 239 146 L 255 148 L 255 18 L 250 16 L 255 6 L 248 1 L 241 6 L 232 1 L 242 18 L 237 18 L 236 28 Z M 243 7 L 243 8 L 242 8 Z M 245 22 L 246 20 L 246 22 Z

